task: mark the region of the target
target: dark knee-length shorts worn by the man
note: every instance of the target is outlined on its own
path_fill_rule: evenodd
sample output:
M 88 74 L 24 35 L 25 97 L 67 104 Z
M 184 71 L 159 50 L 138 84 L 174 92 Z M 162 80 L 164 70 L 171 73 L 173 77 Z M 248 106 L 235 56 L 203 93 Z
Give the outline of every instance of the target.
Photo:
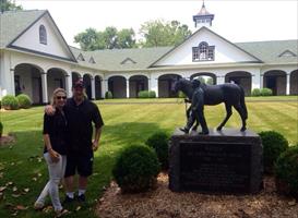
M 64 177 L 74 175 L 76 172 L 82 177 L 88 177 L 93 172 L 93 152 L 72 153 L 67 156 L 67 169 Z

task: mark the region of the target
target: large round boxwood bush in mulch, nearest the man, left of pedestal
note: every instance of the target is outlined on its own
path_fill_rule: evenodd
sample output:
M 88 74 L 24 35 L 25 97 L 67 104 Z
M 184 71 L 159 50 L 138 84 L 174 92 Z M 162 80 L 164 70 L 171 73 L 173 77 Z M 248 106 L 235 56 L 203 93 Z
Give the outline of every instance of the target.
M 132 145 L 126 147 L 117 157 L 112 175 L 122 193 L 138 193 L 156 186 L 159 168 L 152 148 Z

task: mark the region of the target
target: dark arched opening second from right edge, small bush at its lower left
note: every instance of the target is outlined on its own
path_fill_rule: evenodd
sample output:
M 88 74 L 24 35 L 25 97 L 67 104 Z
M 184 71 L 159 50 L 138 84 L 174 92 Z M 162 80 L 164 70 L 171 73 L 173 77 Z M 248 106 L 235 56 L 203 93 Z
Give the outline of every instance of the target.
M 272 89 L 273 95 L 286 95 L 286 72 L 272 70 L 264 73 L 263 87 Z

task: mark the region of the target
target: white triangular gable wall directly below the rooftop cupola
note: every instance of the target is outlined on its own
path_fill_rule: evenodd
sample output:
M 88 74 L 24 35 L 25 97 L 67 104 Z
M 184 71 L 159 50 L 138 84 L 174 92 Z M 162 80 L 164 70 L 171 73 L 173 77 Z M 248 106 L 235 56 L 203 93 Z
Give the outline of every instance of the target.
M 213 58 L 198 61 L 193 60 L 193 50 L 199 45 L 206 44 L 214 50 Z M 260 62 L 259 59 L 246 52 L 225 38 L 211 32 L 206 27 L 200 28 L 187 40 L 175 47 L 153 65 L 191 65 L 191 64 L 211 64 L 211 63 L 239 63 L 239 62 Z

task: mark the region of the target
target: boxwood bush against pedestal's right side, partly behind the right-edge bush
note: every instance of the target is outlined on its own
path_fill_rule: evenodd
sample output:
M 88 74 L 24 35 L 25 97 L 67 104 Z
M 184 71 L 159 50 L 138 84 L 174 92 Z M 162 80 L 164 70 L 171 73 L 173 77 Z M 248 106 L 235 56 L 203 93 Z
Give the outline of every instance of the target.
M 264 171 L 273 172 L 273 167 L 279 155 L 288 148 L 288 141 L 278 132 L 260 132 L 263 144 Z

